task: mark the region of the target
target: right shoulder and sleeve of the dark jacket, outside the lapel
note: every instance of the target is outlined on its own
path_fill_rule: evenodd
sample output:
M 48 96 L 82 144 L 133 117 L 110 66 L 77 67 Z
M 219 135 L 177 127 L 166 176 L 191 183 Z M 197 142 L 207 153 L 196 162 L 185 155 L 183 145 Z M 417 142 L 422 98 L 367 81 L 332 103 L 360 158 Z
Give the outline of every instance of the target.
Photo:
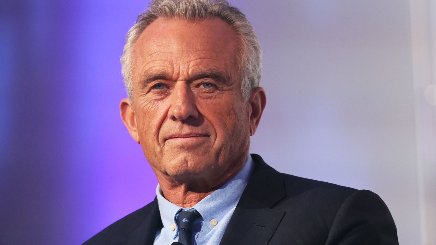
M 287 196 L 273 208 L 286 214 L 276 231 L 282 236 L 275 239 L 293 237 L 298 241 L 307 240 L 308 244 L 322 242 L 327 245 L 398 245 L 392 215 L 374 192 L 283 173 L 279 175 L 283 177 Z

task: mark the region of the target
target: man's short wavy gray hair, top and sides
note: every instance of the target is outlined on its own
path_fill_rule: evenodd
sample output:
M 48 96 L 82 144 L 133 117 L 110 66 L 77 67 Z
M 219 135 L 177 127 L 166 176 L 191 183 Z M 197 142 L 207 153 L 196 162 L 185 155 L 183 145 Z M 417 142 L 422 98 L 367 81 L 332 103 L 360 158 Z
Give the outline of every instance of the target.
M 122 73 L 127 94 L 133 103 L 133 58 L 132 51 L 141 33 L 157 18 L 204 20 L 218 17 L 227 22 L 240 40 L 238 55 L 242 80 L 242 97 L 248 100 L 253 88 L 259 87 L 262 69 L 262 54 L 256 34 L 245 15 L 225 0 L 152 0 L 140 13 L 130 28 L 121 57 Z

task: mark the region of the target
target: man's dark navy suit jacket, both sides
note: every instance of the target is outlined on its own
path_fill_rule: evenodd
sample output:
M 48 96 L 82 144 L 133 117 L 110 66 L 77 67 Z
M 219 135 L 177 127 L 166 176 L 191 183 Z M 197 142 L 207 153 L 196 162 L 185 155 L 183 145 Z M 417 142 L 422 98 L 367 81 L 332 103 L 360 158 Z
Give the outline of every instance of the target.
M 398 244 L 394 220 L 375 193 L 282 174 L 252 158 L 254 171 L 220 245 Z M 161 227 L 155 198 L 83 245 L 152 245 Z

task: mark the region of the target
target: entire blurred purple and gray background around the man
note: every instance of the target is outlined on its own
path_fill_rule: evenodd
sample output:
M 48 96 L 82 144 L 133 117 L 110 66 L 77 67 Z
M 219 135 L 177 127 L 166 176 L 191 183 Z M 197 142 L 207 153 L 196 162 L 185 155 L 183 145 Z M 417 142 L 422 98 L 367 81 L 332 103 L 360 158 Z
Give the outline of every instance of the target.
M 147 0 L 0 2 L 0 244 L 78 245 L 154 198 L 119 118 Z M 436 3 L 230 0 L 263 50 L 251 152 L 370 189 L 402 245 L 436 245 Z

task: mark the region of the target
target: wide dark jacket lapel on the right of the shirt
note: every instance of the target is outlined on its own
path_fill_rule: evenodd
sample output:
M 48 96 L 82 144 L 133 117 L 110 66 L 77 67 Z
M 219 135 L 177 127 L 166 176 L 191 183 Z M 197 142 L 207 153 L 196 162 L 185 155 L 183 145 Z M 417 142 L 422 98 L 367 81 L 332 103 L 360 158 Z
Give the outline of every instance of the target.
M 283 178 L 259 155 L 252 154 L 255 168 L 220 245 L 265 245 L 276 231 L 285 214 L 271 209 L 286 196 Z

